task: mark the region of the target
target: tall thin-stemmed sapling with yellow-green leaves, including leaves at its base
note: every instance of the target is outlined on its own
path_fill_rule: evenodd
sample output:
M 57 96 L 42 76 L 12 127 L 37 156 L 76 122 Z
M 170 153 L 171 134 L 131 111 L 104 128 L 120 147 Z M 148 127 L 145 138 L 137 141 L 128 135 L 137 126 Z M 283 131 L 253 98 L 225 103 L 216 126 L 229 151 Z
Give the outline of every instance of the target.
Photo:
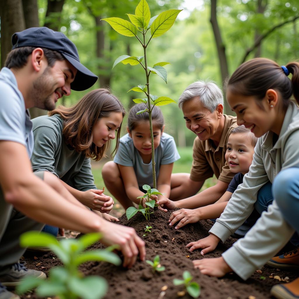
M 163 106 L 167 105 L 170 103 L 176 103 L 176 101 L 172 100 L 169 97 L 158 97 L 154 94 L 150 93 L 149 90 L 149 75 L 150 74 L 156 74 L 159 77 L 161 77 L 165 83 L 167 83 L 167 71 L 164 68 L 165 65 L 170 64 L 169 62 L 158 62 L 155 63 L 152 67 L 147 65 L 147 46 L 149 45 L 149 42 L 151 41 L 152 38 L 156 38 L 158 36 L 161 36 L 164 34 L 167 30 L 169 30 L 173 23 L 176 20 L 176 17 L 180 13 L 181 10 L 179 9 L 170 9 L 166 10 L 162 13 L 160 13 L 157 16 L 153 16 L 151 18 L 151 13 L 149 10 L 149 6 L 147 4 L 146 0 L 141 0 L 139 4 L 137 5 L 135 9 L 135 15 L 132 14 L 127 14 L 130 21 L 127 21 L 125 19 L 121 18 L 106 18 L 103 19 L 103 21 L 106 21 L 111 25 L 111 27 L 118 33 L 124 35 L 124 36 L 135 36 L 140 42 L 142 48 L 143 48 L 143 56 L 129 56 L 129 55 L 121 55 L 118 57 L 114 64 L 117 65 L 118 63 L 123 63 L 123 64 L 130 64 L 130 65 L 141 65 L 141 67 L 145 71 L 145 79 L 146 79 L 146 84 L 145 85 L 138 85 L 137 87 L 133 87 L 129 91 L 137 91 L 137 92 L 142 92 L 146 95 L 146 98 L 138 98 L 134 99 L 133 101 L 135 103 L 145 103 L 147 105 L 147 108 L 144 110 L 140 110 L 137 112 L 137 114 L 140 113 L 148 113 L 149 114 L 149 130 L 150 130 L 150 135 L 151 135 L 151 143 L 152 143 L 152 176 L 153 176 L 153 188 L 157 190 L 157 184 L 156 184 L 156 172 L 155 172 L 155 151 L 154 151 L 154 136 L 153 136 L 153 131 L 152 131 L 152 109 L 153 107 L 156 106 Z M 138 32 L 141 33 L 141 39 L 138 37 Z M 148 41 L 146 41 L 146 34 L 147 32 L 150 32 L 150 37 Z M 144 63 L 143 63 L 144 61 Z M 128 92 L 129 92 L 128 91 Z M 152 105 L 152 104 L 153 105 Z M 158 191 L 158 190 L 157 190 Z M 153 194 L 153 193 L 151 193 Z M 159 193 L 161 194 L 161 193 Z M 147 194 L 145 194 L 146 196 Z M 149 200 L 147 200 L 149 203 Z M 146 203 L 147 204 L 147 203 Z M 150 204 L 148 207 L 153 208 L 153 205 Z M 146 219 L 149 219 L 149 216 L 151 213 L 147 213 L 143 211 L 143 207 L 139 205 L 139 209 L 136 211 L 131 209 L 129 213 L 126 213 L 127 216 L 129 214 L 130 218 L 135 215 L 138 210 L 140 210 L 144 216 L 146 216 Z M 149 209 L 149 208 L 147 208 Z M 127 210 L 128 211 L 128 210 Z M 129 219 L 129 218 L 128 218 Z

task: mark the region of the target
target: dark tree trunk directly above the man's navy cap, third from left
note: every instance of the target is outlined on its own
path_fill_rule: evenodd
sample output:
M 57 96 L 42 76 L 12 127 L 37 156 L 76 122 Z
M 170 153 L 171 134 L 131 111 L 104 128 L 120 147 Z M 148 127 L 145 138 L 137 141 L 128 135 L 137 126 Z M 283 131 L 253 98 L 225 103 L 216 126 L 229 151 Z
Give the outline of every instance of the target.
M 45 27 L 59 31 L 63 4 L 64 0 L 48 0 Z

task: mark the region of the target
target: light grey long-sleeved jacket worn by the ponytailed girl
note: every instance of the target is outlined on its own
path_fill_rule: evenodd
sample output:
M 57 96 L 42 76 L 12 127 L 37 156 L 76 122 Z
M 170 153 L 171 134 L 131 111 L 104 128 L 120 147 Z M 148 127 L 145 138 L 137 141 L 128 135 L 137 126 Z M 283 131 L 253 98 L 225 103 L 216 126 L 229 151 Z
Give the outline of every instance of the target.
M 289 103 L 277 142 L 273 146 L 273 132 L 257 141 L 253 161 L 243 183 L 232 195 L 224 212 L 210 229 L 222 242 L 233 234 L 254 209 L 257 192 L 268 181 L 289 167 L 299 167 L 299 109 Z M 263 212 L 256 224 L 222 254 L 225 262 L 241 278 L 246 280 L 260 269 L 289 241 L 294 229 L 283 219 L 273 200 L 267 212 Z

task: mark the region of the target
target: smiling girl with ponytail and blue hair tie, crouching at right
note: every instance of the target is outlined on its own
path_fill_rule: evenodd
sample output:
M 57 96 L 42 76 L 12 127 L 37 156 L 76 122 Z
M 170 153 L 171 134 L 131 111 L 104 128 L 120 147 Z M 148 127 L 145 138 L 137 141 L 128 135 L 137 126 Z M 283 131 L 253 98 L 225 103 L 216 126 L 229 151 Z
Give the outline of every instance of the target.
M 292 79 L 289 77 L 292 74 Z M 237 123 L 259 137 L 248 174 L 216 220 L 210 235 L 187 247 L 216 248 L 245 221 L 254 208 L 262 212 L 256 224 L 222 257 L 193 261 L 201 273 L 221 277 L 234 271 L 246 280 L 265 263 L 274 268 L 299 269 L 299 64 L 279 66 L 256 58 L 243 63 L 228 80 L 226 97 Z M 257 193 L 272 185 L 273 202 L 257 202 Z M 268 206 L 269 205 L 269 206 Z M 267 207 L 268 206 L 268 207 Z M 288 254 L 273 257 L 290 240 L 297 245 Z M 298 235 L 297 235 L 298 240 Z M 299 298 L 299 278 L 271 289 L 276 298 Z

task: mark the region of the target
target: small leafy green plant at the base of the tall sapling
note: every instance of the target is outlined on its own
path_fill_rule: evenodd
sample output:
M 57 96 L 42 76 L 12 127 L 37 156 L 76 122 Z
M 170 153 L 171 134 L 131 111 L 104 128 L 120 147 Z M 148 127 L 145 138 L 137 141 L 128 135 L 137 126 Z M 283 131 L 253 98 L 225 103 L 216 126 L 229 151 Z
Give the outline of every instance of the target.
M 129 219 L 131 219 L 137 212 L 141 212 L 145 219 L 149 220 L 149 217 L 152 213 L 151 209 L 154 208 L 155 206 L 155 200 L 151 199 L 151 195 L 157 195 L 157 194 L 161 194 L 157 189 L 151 188 L 149 185 L 143 185 L 142 189 L 147 191 L 144 196 L 138 196 L 137 198 L 140 198 L 140 204 L 138 209 L 136 209 L 135 207 L 130 207 L 126 210 L 126 216 Z M 144 205 L 146 206 L 144 208 Z

